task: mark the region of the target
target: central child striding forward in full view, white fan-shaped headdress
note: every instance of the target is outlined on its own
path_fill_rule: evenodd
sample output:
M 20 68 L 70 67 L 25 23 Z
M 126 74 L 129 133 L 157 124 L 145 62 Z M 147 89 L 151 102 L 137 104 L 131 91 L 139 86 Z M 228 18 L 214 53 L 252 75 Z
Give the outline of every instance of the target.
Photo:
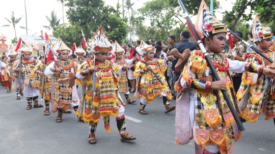
M 77 70 L 77 82 L 82 84 L 82 97 L 76 114 L 78 117 L 84 116 L 84 121 L 89 123 L 89 143 L 96 144 L 95 132 L 101 115 L 107 133 L 111 132 L 109 116 L 112 115 L 116 117 L 121 141 L 135 140 L 134 136 L 126 132 L 124 103 L 115 90 L 118 84 L 117 74 L 124 74 L 128 67 L 112 64 L 106 59 L 107 53 L 112 51 L 112 46 L 102 25 L 90 40 L 88 48 L 95 53 L 96 66 L 94 66 L 94 60 L 85 61 Z M 95 76 L 94 91 L 92 91 L 93 75 Z M 85 104 L 87 108 L 84 109 Z

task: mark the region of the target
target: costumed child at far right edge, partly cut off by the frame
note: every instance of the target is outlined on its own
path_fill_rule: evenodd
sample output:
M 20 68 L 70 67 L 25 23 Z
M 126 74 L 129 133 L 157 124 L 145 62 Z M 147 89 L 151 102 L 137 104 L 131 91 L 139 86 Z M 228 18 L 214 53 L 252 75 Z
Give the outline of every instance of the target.
M 269 49 L 272 45 L 273 34 L 268 32 L 261 24 L 258 15 L 255 17 L 252 33 L 254 43 L 257 44 L 258 50 L 274 61 L 275 52 Z M 261 66 L 270 65 L 268 60 L 264 59 L 255 51 L 250 52 L 246 61 Z M 256 79 L 258 79 L 258 81 Z M 275 117 L 275 104 L 272 97 L 275 95 L 274 85 L 273 80 L 270 80 L 270 78 L 265 75 L 249 72 L 242 75 L 242 82 L 237 93 L 237 99 L 240 100 L 239 107 L 246 121 L 256 122 L 261 112 L 265 113 L 266 120 Z

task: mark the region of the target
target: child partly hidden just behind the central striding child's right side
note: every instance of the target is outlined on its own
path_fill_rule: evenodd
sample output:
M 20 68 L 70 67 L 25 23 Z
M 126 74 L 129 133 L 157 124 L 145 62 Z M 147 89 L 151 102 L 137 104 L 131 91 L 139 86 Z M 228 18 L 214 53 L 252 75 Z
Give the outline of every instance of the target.
M 135 59 L 124 59 L 123 58 L 124 49 L 119 45 L 117 41 L 115 41 L 112 49 L 113 49 L 112 55 L 115 56 L 115 58 L 111 60 L 113 64 L 117 64 L 119 66 L 134 67 L 134 65 L 132 64 L 134 64 Z M 130 98 L 126 72 L 124 72 L 121 76 L 118 76 L 118 80 L 119 80 L 118 81 L 119 93 L 124 94 L 127 103 L 132 104 L 136 102 L 135 100 L 131 100 Z

